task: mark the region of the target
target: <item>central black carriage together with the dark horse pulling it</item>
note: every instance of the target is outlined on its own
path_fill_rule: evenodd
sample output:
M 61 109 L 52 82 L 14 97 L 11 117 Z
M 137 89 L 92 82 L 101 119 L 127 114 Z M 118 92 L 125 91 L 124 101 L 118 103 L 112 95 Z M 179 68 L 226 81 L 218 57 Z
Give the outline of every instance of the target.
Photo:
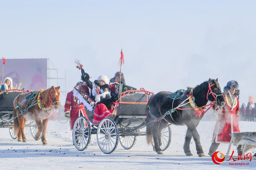
M 113 119 L 104 118 L 98 127 L 91 127 L 93 112 L 87 111 L 89 120 L 79 117 L 74 123 L 72 135 L 75 147 L 83 151 L 88 147 L 91 135 L 96 134 L 101 151 L 111 153 L 115 151 L 118 141 L 125 149 L 130 149 L 137 136 L 147 135 L 148 144 L 153 145 L 157 154 L 163 154 L 171 142 L 170 125 L 175 124 L 188 127 L 183 147 L 185 154 L 192 155 L 189 144 L 193 137 L 198 156 L 204 157 L 196 127 L 207 110 L 211 107 L 218 110 L 218 107 L 225 105 L 218 79 L 209 78 L 195 88 L 175 93 L 158 92 L 151 97 L 152 94 L 144 89 L 122 92 L 117 101 L 116 116 Z M 211 103 L 207 105 L 208 101 Z M 146 131 L 140 131 L 146 126 Z

